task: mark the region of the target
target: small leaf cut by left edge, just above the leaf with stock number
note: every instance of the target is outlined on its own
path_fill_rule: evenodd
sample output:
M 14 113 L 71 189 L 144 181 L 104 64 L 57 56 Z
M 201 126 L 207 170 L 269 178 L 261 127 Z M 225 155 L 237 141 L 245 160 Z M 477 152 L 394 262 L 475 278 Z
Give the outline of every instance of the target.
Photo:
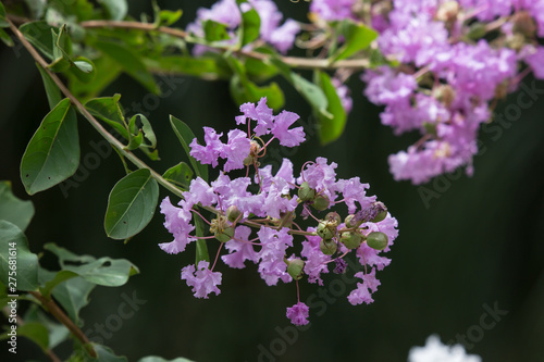
M 23 201 L 13 195 L 10 182 L 0 182 L 0 220 L 9 221 L 24 232 L 33 216 L 32 201 Z

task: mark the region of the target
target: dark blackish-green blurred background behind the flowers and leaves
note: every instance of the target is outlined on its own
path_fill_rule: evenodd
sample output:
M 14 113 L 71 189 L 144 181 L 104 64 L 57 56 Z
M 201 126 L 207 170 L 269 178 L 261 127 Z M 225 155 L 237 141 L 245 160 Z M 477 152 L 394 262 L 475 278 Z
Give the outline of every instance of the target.
M 195 17 L 197 5 L 210 7 L 212 1 L 159 4 L 182 8 L 180 26 L 185 26 Z M 307 2 L 277 4 L 286 16 L 305 20 Z M 141 12 L 150 14 L 150 5 L 131 1 L 131 13 L 138 16 Z M 49 110 L 46 95 L 30 57 L 16 57 L 4 46 L 0 48 L 0 178 L 13 183 L 16 196 L 30 199 L 21 184 L 18 164 Z M 180 79 L 174 92 L 150 110 L 161 157 L 152 166 L 159 172 L 185 160 L 169 114 L 188 123 L 200 137 L 201 126 L 228 129 L 238 114 L 226 83 Z M 530 77 L 524 84 L 544 90 L 544 83 Z M 310 109 L 287 84 L 281 85 L 286 90 L 285 109 L 300 114 L 311 135 Z M 202 362 L 406 361 L 410 347 L 424 345 L 431 334 L 438 334 L 444 342 L 466 338 L 469 352 L 486 362 L 544 361 L 544 91 L 529 109 L 517 105 L 519 92 L 499 103 L 496 114 L 504 114 L 509 104 L 508 112 L 517 108 L 520 114 L 509 113 L 503 124 L 481 133 L 482 151 L 474 158 L 472 177 L 458 172 L 421 188 L 395 182 L 387 165 L 387 155 L 406 149 L 417 135 L 395 137 L 380 124 L 380 109 L 362 96 L 357 75 L 349 86 L 354 111 L 341 139 L 322 147 L 317 136 L 310 136 L 295 154 L 289 150 L 283 154 L 296 167 L 319 155 L 338 163 L 338 176 L 360 176 L 370 183 L 370 194 L 378 195 L 397 217 L 400 234 L 387 255 L 391 265 L 379 273 L 382 285 L 373 304 L 350 305 L 345 297 L 355 285 L 347 285 L 341 297 L 310 310 L 310 328 L 295 333 L 285 329 L 289 326 L 285 308 L 295 302 L 294 285 L 268 287 L 255 265 L 240 271 L 221 263 L 221 295 L 195 299 L 180 279 L 181 269 L 194 263 L 194 245 L 177 255 L 161 251 L 157 245 L 172 237 L 160 213 L 126 245 L 107 238 L 108 195 L 124 174 L 111 154 L 88 175 L 81 172 L 84 180 L 78 187 L 64 191 L 54 187 L 34 196 L 36 215 L 26 233 L 34 252 L 46 242 L 57 242 L 76 253 L 125 258 L 139 266 L 141 274 L 125 286 L 95 289 L 82 312 L 84 330 L 99 336 L 95 324 L 104 324 L 124 298 L 136 294 L 143 300 L 139 309 L 104 338 L 104 345 L 129 361 L 149 354 Z M 133 101 L 143 102 L 147 95 L 127 76 L 103 95 L 114 92 L 123 95 L 126 108 Z M 84 160 L 95 152 L 90 143 L 100 137 L 83 117 L 79 121 Z M 161 198 L 166 195 L 161 190 Z M 217 245 L 210 248 L 214 254 Z M 302 300 L 317 290 L 316 285 L 302 284 Z M 484 315 L 494 309 L 499 310 L 495 320 Z M 65 357 L 70 348 L 70 342 L 62 345 L 59 354 Z M 18 351 L 17 360 L 47 360 L 23 339 Z

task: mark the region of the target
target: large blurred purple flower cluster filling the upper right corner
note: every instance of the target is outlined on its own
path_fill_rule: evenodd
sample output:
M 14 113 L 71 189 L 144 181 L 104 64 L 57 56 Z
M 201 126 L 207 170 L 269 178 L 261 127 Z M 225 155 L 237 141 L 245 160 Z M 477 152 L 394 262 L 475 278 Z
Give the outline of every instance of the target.
M 354 0 L 313 0 L 310 9 L 326 21 L 367 18 Z M 369 13 L 380 51 L 399 65 L 367 71 L 366 96 L 385 107 L 382 123 L 396 134 L 422 135 L 390 157 L 395 179 L 421 184 L 459 166 L 470 175 L 496 101 L 531 71 L 544 78 L 544 2 L 393 0 Z

